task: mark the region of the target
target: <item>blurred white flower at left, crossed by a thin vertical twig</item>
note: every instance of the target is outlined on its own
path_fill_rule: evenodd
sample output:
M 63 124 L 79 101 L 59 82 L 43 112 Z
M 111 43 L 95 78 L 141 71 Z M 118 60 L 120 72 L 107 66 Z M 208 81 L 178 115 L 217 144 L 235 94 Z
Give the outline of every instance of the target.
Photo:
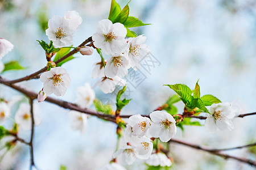
M 41 118 L 38 115 L 36 105 L 34 105 L 33 113 L 34 113 L 35 126 L 38 126 L 41 122 Z M 15 121 L 24 130 L 31 129 L 32 120 L 31 120 L 31 111 L 30 111 L 29 104 L 26 104 L 26 103 L 20 104 L 19 109 L 15 114 Z

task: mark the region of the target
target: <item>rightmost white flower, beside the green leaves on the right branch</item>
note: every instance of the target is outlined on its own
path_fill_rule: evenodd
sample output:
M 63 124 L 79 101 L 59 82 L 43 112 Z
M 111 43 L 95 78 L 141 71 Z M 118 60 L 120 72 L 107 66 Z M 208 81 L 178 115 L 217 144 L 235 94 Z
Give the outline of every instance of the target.
M 237 109 L 233 108 L 230 103 L 212 104 L 209 109 L 210 114 L 207 113 L 205 120 L 205 129 L 210 133 L 220 129 L 222 131 L 229 131 L 234 128 L 232 118 L 236 116 Z

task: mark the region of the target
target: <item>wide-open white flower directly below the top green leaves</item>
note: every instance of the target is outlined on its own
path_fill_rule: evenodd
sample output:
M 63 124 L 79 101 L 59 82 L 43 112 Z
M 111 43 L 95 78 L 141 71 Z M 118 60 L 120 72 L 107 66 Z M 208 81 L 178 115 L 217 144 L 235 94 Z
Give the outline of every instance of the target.
M 93 44 L 107 55 L 120 54 L 127 49 L 126 33 L 123 24 L 113 24 L 109 19 L 103 19 L 96 26 L 96 33 L 92 36 Z

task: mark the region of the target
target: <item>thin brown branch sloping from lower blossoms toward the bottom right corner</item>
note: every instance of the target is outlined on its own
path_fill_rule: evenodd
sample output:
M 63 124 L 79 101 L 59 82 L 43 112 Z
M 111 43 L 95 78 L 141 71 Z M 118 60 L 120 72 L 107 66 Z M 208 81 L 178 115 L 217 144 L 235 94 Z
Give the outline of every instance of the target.
M 205 152 L 208 152 L 208 153 L 213 154 L 213 155 L 221 156 L 224 159 L 234 159 L 234 160 L 238 160 L 239 162 L 250 164 L 250 165 L 256 167 L 256 162 L 254 162 L 253 160 L 250 160 L 250 159 L 240 158 L 240 157 L 232 156 L 232 155 L 228 155 L 228 154 L 223 154 L 223 153 L 220 153 L 220 151 L 216 151 L 216 150 L 213 150 L 213 149 L 209 149 L 207 147 L 203 147 L 203 146 L 195 145 L 195 144 L 192 144 L 192 143 L 180 141 L 178 139 L 171 139 L 170 143 L 177 143 L 179 145 L 192 147 L 192 148 L 195 148 L 197 150 L 205 151 Z

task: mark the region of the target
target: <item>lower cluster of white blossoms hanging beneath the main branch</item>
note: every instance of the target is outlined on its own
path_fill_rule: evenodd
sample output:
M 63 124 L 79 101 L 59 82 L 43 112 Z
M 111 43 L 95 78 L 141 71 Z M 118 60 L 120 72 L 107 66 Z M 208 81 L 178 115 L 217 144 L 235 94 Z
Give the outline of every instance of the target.
M 151 118 L 151 120 L 150 120 Z M 113 158 L 121 155 L 122 163 L 133 164 L 138 159 L 147 160 L 151 164 L 152 160 L 158 157 L 161 166 L 170 166 L 171 162 L 166 156 L 152 154 L 153 143 L 151 138 L 159 138 L 162 142 L 168 142 L 176 134 L 176 121 L 171 114 L 154 111 L 150 113 L 150 118 L 142 117 L 139 114 L 129 118 L 123 134 L 122 146 L 114 153 Z M 168 160 L 169 161 L 168 161 Z M 156 165 L 153 163 L 152 165 Z

